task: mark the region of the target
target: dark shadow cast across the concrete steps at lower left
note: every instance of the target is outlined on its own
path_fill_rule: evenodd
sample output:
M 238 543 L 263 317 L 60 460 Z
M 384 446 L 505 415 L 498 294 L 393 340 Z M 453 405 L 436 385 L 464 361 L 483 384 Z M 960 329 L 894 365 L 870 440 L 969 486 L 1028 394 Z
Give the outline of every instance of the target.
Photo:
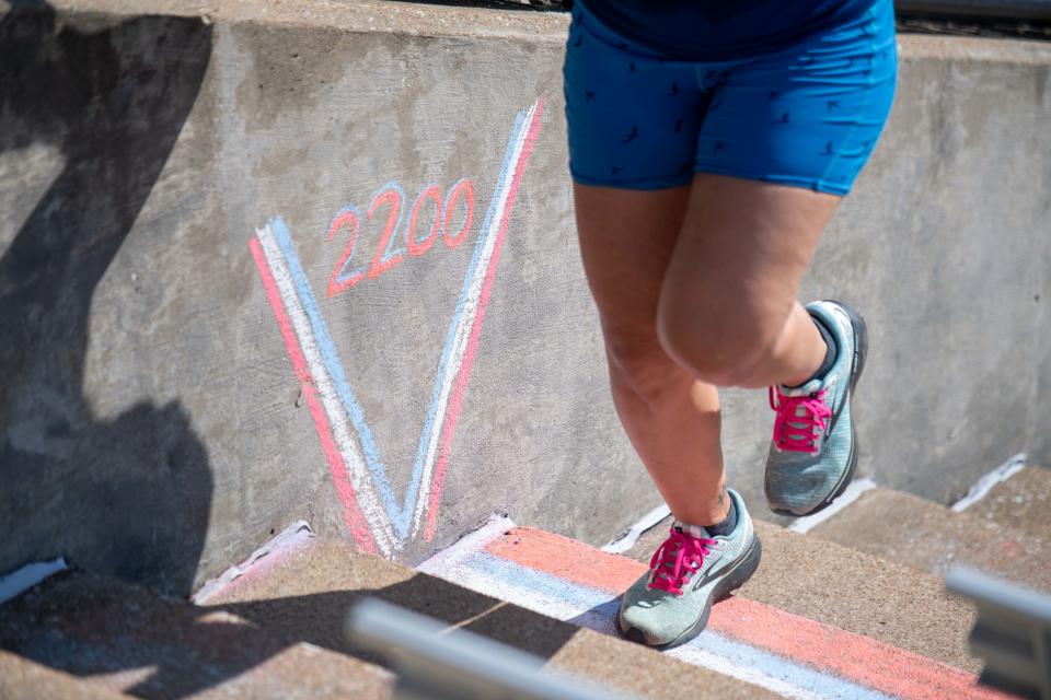
M 579 631 L 426 574 L 377 590 L 194 607 L 71 571 L 0 607 L 0 646 L 80 677 L 142 674 L 124 690 L 131 696 L 185 698 L 235 679 L 299 642 L 386 665 L 344 631 L 347 611 L 369 596 L 545 660 Z

